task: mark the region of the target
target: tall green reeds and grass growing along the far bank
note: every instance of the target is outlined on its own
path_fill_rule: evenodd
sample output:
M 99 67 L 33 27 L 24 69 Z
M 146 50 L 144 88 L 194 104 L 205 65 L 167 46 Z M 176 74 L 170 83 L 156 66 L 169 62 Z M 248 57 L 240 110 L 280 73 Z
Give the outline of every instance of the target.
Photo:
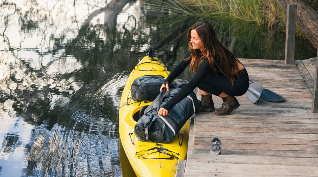
M 247 22 L 264 30 L 286 32 L 286 13 L 275 0 L 149 0 L 151 11 L 179 17 Z M 296 27 L 296 36 L 304 37 Z

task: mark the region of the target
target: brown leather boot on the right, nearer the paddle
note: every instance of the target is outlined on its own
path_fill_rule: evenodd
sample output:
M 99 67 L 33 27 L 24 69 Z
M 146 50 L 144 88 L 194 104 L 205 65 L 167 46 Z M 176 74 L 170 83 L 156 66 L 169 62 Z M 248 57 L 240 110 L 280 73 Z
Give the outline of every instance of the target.
M 234 96 L 226 96 L 222 98 L 223 103 L 220 109 L 214 111 L 215 115 L 225 116 L 229 115 L 233 110 L 239 107 L 239 102 Z

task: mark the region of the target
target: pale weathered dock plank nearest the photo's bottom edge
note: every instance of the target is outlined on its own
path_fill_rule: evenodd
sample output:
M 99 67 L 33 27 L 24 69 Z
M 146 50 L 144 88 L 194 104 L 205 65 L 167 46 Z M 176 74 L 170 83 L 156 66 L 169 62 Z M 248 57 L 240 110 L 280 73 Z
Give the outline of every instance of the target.
M 227 163 L 202 163 L 188 162 L 190 165 L 186 167 L 186 173 L 235 173 L 237 176 L 247 174 L 261 174 L 273 176 L 316 176 L 318 174 L 317 166 L 278 166 L 278 165 L 257 165 L 257 164 L 227 164 Z M 185 175 L 186 176 L 186 175 Z

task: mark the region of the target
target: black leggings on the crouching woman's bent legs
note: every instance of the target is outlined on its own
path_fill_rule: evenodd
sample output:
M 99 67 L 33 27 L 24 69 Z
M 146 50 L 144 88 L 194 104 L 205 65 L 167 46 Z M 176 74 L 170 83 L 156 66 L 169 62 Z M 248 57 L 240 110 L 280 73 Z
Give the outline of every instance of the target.
M 235 74 L 236 81 L 229 81 L 222 73 L 218 73 L 218 77 L 214 72 L 209 73 L 197 86 L 200 90 L 211 93 L 215 96 L 219 96 L 222 92 L 231 96 L 242 96 L 246 93 L 250 82 L 246 69 L 242 69 L 243 72 L 238 72 L 238 76 Z

